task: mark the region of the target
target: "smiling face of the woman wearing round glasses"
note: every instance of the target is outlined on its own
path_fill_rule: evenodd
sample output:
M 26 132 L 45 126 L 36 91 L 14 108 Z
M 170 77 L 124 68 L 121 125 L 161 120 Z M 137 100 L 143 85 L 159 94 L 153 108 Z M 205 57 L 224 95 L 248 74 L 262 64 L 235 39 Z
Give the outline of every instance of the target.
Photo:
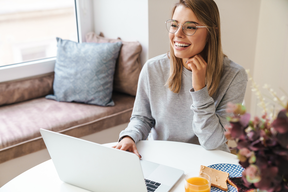
M 178 24 L 184 24 L 185 22 L 190 21 L 194 22 L 197 26 L 203 26 L 192 10 L 183 5 L 176 7 L 172 19 Z M 183 32 L 182 25 L 179 25 L 178 30 L 175 33 L 169 33 L 170 43 L 173 47 L 175 56 L 182 59 L 188 59 L 201 53 L 206 45 L 207 33 L 207 28 L 203 27 L 197 28 L 193 35 L 188 36 Z M 188 46 L 179 47 L 179 45 L 177 46 L 175 43 L 177 45 L 178 43 L 181 43 Z

